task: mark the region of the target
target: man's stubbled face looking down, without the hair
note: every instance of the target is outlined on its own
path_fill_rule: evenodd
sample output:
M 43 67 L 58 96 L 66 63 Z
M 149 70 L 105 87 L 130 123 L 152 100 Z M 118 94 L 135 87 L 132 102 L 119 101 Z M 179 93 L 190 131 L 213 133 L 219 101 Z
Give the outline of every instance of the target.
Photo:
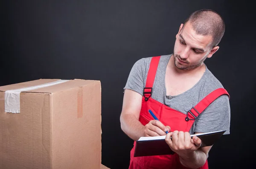
M 192 70 L 211 57 L 211 36 L 196 34 L 190 23 L 180 26 L 174 46 L 174 63 L 178 69 Z M 218 49 L 217 49 L 218 50 Z

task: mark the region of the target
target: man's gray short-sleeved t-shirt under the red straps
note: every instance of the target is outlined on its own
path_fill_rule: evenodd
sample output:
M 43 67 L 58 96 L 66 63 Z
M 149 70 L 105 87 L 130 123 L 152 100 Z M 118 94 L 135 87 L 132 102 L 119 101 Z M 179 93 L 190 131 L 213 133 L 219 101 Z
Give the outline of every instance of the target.
M 223 87 L 218 79 L 206 68 L 204 75 L 192 88 L 177 96 L 166 96 L 165 74 L 166 66 L 171 56 L 172 54 L 164 55 L 160 58 L 154 79 L 152 99 L 186 114 L 188 110 L 213 90 Z M 142 58 L 133 65 L 124 89 L 134 90 L 143 95 L 151 58 Z M 227 95 L 222 95 L 215 99 L 195 120 L 189 133 L 218 130 L 227 130 L 224 134 L 230 134 L 230 103 Z

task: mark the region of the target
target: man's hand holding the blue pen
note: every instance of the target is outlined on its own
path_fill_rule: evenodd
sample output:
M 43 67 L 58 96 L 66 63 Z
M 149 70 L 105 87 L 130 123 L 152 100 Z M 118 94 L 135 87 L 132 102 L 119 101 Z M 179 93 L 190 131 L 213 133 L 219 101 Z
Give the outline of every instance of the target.
M 146 137 L 166 135 L 166 131 L 170 132 L 171 127 L 163 125 L 158 120 L 151 120 L 145 125 L 144 134 Z

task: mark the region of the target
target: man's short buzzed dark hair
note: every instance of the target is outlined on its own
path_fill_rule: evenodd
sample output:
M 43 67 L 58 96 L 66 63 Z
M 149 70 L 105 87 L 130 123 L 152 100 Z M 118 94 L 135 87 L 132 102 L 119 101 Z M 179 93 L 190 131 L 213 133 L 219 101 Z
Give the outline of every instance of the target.
M 185 20 L 189 22 L 197 34 L 212 36 L 212 48 L 217 46 L 225 32 L 225 23 L 220 14 L 211 9 L 201 9 L 193 12 Z

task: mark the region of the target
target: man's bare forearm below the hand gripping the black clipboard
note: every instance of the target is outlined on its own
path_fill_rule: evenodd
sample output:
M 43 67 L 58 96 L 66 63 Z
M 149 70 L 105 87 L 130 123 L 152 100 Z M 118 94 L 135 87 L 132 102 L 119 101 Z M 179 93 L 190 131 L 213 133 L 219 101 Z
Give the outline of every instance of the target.
M 191 155 L 180 157 L 180 163 L 188 168 L 197 169 L 204 165 L 207 160 L 207 155 L 200 149 L 192 152 Z

